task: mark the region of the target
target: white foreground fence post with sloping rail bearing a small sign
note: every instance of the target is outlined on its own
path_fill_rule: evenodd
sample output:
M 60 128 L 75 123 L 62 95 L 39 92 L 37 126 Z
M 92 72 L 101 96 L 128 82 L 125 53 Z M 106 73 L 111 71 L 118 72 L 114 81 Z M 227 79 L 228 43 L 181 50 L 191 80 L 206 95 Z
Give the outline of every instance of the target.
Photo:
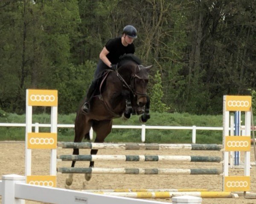
M 2 204 L 24 204 L 25 200 L 50 204 L 167 204 L 158 201 L 31 185 L 25 183 L 25 176 L 15 174 L 2 176 L 2 180 L 0 181 Z

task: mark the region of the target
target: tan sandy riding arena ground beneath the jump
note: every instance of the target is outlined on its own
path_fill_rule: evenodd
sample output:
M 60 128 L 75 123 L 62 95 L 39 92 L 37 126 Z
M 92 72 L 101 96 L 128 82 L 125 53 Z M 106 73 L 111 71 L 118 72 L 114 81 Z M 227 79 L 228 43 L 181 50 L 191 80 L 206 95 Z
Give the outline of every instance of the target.
M 88 154 L 90 150 L 81 150 L 80 154 Z M 71 149 L 58 149 L 58 155 L 72 154 Z M 118 155 L 183 155 L 183 156 L 222 156 L 218 151 L 189 151 L 189 150 L 99 150 L 98 154 Z M 49 150 L 32 150 L 32 175 L 49 174 Z M 253 148 L 251 161 L 253 161 Z M 70 161 L 58 162 L 58 167 L 70 167 Z M 76 167 L 88 167 L 89 161 L 78 161 Z M 140 168 L 222 168 L 216 163 L 196 162 L 120 162 L 97 161 L 95 167 L 140 167 Z M 6 174 L 24 175 L 25 172 L 25 144 L 0 142 L 0 176 Z M 251 192 L 256 192 L 256 168 L 250 170 Z M 243 175 L 243 170 L 230 170 L 230 176 Z M 57 187 L 65 188 L 66 174 L 58 174 Z M 83 174 L 74 175 L 70 189 L 116 189 L 116 188 L 148 188 L 148 189 L 179 189 L 179 188 L 207 188 L 210 191 L 222 190 L 222 177 L 217 175 L 93 175 L 90 181 L 84 182 Z M 151 199 L 153 200 L 153 199 Z M 156 199 L 171 203 L 171 198 Z M 26 201 L 26 204 L 38 204 Z M 203 204 L 253 204 L 256 199 L 239 198 L 203 198 Z

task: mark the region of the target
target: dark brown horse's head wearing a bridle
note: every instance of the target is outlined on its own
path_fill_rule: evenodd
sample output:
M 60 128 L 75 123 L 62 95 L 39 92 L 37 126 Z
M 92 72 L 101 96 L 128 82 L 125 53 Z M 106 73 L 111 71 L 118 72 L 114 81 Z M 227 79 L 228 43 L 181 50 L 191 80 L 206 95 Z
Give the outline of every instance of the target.
M 149 70 L 152 66 L 145 67 L 143 65 L 136 65 L 131 74 L 131 89 L 134 96 L 137 98 L 137 105 L 142 107 L 147 102 L 147 85 L 149 79 Z

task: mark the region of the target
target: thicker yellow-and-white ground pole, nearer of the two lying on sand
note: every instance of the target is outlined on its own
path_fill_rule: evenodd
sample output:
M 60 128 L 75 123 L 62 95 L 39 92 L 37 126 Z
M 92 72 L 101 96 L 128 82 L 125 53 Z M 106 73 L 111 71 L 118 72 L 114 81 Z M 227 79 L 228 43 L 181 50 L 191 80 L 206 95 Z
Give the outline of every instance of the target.
M 98 194 L 114 195 L 128 198 L 172 198 L 173 196 L 192 195 L 201 198 L 232 198 L 230 192 L 101 192 Z

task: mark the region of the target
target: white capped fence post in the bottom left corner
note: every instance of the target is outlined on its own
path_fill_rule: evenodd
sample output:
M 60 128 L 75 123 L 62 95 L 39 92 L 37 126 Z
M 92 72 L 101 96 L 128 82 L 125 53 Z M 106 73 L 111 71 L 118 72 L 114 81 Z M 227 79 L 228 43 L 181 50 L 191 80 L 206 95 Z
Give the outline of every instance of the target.
M 15 198 L 15 183 L 25 183 L 26 177 L 16 174 L 2 176 L 2 204 L 25 204 L 24 200 Z

